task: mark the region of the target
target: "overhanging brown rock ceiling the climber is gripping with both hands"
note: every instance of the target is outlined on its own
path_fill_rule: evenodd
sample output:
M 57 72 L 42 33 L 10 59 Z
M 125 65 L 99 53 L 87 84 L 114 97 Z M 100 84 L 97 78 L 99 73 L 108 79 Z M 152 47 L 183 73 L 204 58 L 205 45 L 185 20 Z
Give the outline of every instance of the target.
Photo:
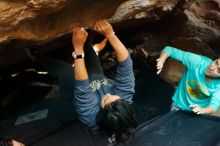
M 57 43 L 57 39 L 65 38 L 75 25 L 89 27 L 98 19 L 108 18 L 120 22 L 141 12 L 146 12 L 144 17 L 149 19 L 159 19 L 162 13 L 154 15 L 153 11 L 171 11 L 176 3 L 174 0 L 0 1 L 0 54 L 4 54 L 0 57 L 0 67 L 24 60 L 21 48 L 30 43 L 53 40 Z

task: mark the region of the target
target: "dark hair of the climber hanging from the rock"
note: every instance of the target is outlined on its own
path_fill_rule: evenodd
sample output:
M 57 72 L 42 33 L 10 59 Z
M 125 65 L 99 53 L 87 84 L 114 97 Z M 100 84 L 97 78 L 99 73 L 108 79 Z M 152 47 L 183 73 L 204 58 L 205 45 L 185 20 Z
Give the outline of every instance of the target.
M 96 117 L 97 126 L 117 142 L 125 142 L 134 135 L 137 122 L 132 104 L 118 99 L 102 108 Z

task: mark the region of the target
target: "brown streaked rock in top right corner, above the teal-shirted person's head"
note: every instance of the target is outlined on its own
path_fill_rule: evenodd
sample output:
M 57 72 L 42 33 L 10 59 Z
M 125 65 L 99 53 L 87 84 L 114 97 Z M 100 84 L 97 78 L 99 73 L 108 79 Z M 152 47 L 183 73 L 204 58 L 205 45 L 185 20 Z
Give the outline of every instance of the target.
M 190 35 L 210 41 L 220 37 L 220 1 L 195 1 L 186 5 L 187 27 Z

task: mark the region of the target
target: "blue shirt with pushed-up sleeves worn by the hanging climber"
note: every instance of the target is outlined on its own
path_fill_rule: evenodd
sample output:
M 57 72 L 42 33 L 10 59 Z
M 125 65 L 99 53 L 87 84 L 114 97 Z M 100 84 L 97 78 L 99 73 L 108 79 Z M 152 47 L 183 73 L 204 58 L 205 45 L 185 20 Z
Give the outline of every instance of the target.
M 128 56 L 125 61 L 118 62 L 114 80 L 103 79 L 89 83 L 87 80 L 75 80 L 75 107 L 79 120 L 88 127 L 96 126 L 96 114 L 100 110 L 101 100 L 107 93 L 118 95 L 132 103 L 135 79 L 133 63 Z

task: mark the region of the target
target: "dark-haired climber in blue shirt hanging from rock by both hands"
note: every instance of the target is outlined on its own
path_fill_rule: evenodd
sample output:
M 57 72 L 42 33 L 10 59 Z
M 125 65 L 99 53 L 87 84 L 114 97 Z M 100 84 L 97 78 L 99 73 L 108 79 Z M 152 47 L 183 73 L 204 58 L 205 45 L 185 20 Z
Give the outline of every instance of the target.
M 125 141 L 136 127 L 132 60 L 106 20 L 95 22 L 93 30 L 104 35 L 115 51 L 116 76 L 114 80 L 104 76 L 88 32 L 83 27 L 73 28 L 75 108 L 79 120 L 88 127 L 98 127 L 107 135 L 114 135 L 116 141 Z

